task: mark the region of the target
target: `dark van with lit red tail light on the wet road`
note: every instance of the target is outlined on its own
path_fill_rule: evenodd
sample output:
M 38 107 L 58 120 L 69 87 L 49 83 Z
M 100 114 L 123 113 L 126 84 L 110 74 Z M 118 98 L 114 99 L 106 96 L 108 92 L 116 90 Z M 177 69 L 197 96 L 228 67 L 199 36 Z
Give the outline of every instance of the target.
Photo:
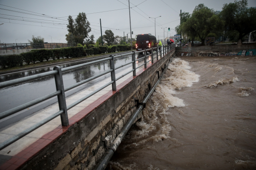
M 151 34 L 139 34 L 137 35 L 136 51 L 142 51 L 144 49 L 157 47 L 157 39 Z M 157 49 L 154 49 L 157 51 Z M 151 50 L 148 51 L 151 54 Z

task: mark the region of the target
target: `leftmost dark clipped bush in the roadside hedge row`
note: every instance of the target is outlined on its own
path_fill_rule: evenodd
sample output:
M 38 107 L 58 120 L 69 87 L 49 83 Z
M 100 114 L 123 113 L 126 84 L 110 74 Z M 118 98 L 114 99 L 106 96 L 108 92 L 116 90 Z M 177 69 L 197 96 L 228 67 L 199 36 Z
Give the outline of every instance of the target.
M 0 56 L 0 65 L 3 68 L 6 68 L 6 66 L 8 68 L 12 68 L 15 67 L 17 65 L 22 66 L 23 65 L 23 57 L 19 54 L 15 55 L 2 55 Z

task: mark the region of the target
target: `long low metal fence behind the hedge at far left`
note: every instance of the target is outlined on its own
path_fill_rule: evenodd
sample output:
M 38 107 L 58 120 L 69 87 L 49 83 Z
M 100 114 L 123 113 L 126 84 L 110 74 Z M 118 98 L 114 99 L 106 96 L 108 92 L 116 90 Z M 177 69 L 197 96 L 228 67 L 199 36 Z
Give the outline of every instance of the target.
M 67 43 L 42 43 L 42 44 L 31 44 L 31 43 L 16 43 L 16 44 L 0 44 L 0 50 L 20 50 L 20 49 L 42 49 L 42 48 L 64 48 L 64 47 L 75 47 L 76 44 Z

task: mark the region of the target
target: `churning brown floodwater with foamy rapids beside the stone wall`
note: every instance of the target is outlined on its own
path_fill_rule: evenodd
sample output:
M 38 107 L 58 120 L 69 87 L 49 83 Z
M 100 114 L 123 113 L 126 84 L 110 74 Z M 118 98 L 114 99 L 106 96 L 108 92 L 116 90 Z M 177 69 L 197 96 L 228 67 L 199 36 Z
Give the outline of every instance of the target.
M 108 165 L 113 170 L 256 169 L 256 57 L 180 57 Z

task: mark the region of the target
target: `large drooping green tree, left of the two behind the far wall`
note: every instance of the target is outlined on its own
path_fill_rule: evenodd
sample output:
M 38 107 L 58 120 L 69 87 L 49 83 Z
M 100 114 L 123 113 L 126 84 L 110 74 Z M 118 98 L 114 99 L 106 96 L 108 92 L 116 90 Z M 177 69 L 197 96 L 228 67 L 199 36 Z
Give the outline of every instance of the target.
M 198 37 L 201 44 L 204 45 L 204 40 L 209 33 L 216 36 L 221 35 L 224 30 L 224 21 L 215 14 L 213 9 L 199 4 L 195 7 L 191 17 L 188 17 L 186 22 L 181 23 L 180 29 L 182 34 L 192 38 Z

